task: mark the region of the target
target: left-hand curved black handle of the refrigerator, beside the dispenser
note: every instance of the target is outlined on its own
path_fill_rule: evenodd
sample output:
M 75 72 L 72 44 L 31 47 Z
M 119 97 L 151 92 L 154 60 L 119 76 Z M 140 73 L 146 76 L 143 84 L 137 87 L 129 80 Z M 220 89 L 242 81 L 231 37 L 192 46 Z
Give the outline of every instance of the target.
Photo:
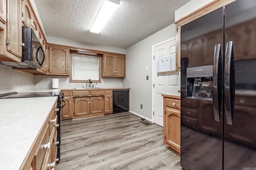
M 220 44 L 215 45 L 213 59 L 213 110 L 215 121 L 220 121 L 220 111 L 222 102 L 222 56 Z

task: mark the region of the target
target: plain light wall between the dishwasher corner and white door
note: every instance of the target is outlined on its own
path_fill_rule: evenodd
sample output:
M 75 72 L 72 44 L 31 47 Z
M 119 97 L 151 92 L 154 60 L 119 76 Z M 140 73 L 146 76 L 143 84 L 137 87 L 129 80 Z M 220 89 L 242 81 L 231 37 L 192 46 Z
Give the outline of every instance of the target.
M 152 45 L 175 36 L 175 24 L 126 49 L 126 77 L 130 81 L 130 111 L 152 120 Z M 148 66 L 148 71 L 146 71 Z M 146 80 L 146 76 L 149 79 Z M 142 104 L 143 108 L 140 109 Z

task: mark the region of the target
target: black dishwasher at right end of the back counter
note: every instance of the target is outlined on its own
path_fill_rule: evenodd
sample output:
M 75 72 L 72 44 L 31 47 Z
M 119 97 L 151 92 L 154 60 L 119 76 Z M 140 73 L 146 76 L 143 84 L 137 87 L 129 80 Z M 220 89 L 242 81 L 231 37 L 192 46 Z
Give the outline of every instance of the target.
M 113 114 L 129 110 L 129 89 L 113 90 Z

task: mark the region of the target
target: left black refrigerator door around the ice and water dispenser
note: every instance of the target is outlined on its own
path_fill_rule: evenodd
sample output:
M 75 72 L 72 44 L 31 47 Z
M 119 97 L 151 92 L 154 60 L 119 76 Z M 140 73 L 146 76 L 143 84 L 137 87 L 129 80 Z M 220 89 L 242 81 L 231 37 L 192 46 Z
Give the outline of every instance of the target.
M 181 31 L 181 166 L 185 170 L 222 170 L 222 113 L 220 121 L 215 121 L 213 101 L 187 98 L 198 87 L 187 81 L 187 68 L 213 65 L 215 45 L 223 49 L 223 8 L 183 25 Z

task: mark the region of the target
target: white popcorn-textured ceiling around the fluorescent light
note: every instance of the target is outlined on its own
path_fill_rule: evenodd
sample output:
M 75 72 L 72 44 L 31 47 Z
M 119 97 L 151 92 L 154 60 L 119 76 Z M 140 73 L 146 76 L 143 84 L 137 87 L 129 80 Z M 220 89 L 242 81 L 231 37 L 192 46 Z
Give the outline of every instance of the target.
M 99 34 L 90 27 L 103 0 L 34 0 L 46 35 L 127 49 L 174 23 L 190 0 L 120 0 Z

